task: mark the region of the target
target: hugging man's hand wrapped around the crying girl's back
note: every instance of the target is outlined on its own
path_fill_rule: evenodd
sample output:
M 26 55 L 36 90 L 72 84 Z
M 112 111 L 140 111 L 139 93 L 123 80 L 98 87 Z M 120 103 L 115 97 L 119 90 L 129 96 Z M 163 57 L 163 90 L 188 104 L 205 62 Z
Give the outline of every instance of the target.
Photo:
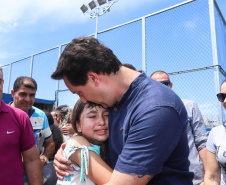
M 69 166 L 68 160 L 63 157 L 63 151 L 66 146 L 66 143 L 63 143 L 60 147 L 60 149 L 57 151 L 54 161 L 53 161 L 53 166 L 56 171 L 56 175 L 60 180 L 63 180 L 63 176 L 69 177 L 69 173 L 66 172 L 68 171 L 73 171 L 74 169 Z

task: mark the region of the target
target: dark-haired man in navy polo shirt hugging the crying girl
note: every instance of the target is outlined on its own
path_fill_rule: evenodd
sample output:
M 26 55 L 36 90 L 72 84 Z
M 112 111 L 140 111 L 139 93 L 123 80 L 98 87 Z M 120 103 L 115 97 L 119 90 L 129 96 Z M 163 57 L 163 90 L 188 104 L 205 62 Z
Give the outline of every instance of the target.
M 63 78 L 83 102 L 110 109 L 106 157 L 114 171 L 107 184 L 192 185 L 187 113 L 173 91 L 122 66 L 92 37 L 75 38 L 67 45 L 52 78 Z M 66 161 L 59 156 L 55 169 L 61 178 L 67 173 L 59 164 Z

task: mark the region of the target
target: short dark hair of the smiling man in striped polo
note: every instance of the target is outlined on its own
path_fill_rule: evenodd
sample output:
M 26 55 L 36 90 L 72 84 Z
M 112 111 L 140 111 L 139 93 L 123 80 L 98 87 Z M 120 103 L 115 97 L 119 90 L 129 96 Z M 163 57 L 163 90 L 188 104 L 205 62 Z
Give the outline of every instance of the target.
M 31 84 L 24 84 L 24 80 L 30 80 L 30 81 L 33 83 L 33 85 L 31 85 Z M 20 76 L 20 77 L 18 77 L 18 78 L 15 80 L 14 84 L 13 84 L 13 90 L 14 90 L 14 92 L 17 92 L 17 91 L 20 89 L 20 87 L 21 87 L 22 85 L 23 85 L 24 87 L 27 87 L 27 88 L 29 88 L 29 89 L 34 89 L 34 90 L 37 91 L 37 83 L 36 83 L 36 81 L 35 81 L 33 78 L 31 78 L 31 77 L 27 77 L 27 76 Z

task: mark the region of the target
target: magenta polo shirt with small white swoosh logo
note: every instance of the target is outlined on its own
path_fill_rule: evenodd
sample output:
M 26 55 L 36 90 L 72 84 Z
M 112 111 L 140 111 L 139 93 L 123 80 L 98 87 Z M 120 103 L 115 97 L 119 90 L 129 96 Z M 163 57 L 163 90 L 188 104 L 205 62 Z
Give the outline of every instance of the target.
M 33 146 L 35 137 L 28 115 L 1 100 L 0 184 L 24 184 L 21 153 Z

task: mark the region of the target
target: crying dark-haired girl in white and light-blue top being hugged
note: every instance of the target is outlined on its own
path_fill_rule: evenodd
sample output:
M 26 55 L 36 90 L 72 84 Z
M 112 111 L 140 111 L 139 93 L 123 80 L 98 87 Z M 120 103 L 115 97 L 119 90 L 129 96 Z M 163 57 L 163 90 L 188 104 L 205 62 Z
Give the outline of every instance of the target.
M 108 139 L 108 111 L 103 107 L 79 99 L 75 104 L 72 125 L 75 134 L 64 149 L 63 155 L 74 168 L 69 177 L 58 180 L 57 185 L 94 185 L 110 180 L 112 169 L 100 158 L 100 145 Z M 81 146 L 80 142 L 86 143 Z M 95 155 L 89 157 L 89 152 Z M 89 160 L 92 165 L 89 166 Z M 101 165 L 95 165 L 95 164 Z

